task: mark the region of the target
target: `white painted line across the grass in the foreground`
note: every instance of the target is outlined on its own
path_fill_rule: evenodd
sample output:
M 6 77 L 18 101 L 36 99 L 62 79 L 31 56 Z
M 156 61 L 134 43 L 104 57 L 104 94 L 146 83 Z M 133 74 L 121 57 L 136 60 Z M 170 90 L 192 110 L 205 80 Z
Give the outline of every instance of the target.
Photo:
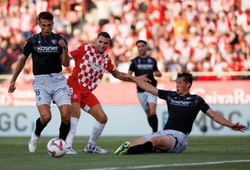
M 184 163 L 184 164 L 163 164 L 163 165 L 144 165 L 144 166 L 128 166 L 128 167 L 110 167 L 110 168 L 94 168 L 83 170 L 119 170 L 119 169 L 144 169 L 144 168 L 160 168 L 171 166 L 195 166 L 195 165 L 215 165 L 224 163 L 240 163 L 250 162 L 250 160 L 232 160 L 232 161 L 219 161 L 219 162 L 200 162 L 200 163 Z

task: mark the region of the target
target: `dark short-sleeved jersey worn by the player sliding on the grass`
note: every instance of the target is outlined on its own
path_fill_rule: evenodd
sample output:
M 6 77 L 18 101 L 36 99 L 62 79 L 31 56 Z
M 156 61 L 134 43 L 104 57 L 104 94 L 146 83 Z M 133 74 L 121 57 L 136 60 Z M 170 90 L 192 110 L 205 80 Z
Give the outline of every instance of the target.
M 168 106 L 169 117 L 164 130 L 172 129 L 189 134 L 199 111 L 206 113 L 210 108 L 198 95 L 179 96 L 175 91 L 159 90 L 158 96 L 166 100 Z

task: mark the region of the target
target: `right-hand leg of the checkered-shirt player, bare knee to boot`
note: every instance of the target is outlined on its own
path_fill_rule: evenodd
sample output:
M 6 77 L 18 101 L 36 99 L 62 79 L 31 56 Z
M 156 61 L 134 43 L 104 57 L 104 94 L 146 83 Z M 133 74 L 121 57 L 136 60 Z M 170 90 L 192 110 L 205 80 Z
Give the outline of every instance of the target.
M 96 122 L 92 129 L 88 145 L 84 148 L 84 152 L 107 153 L 105 149 L 100 149 L 95 146 L 98 138 L 101 136 L 102 131 L 107 123 L 107 115 L 104 113 L 100 103 L 91 107 L 88 112 L 96 119 Z

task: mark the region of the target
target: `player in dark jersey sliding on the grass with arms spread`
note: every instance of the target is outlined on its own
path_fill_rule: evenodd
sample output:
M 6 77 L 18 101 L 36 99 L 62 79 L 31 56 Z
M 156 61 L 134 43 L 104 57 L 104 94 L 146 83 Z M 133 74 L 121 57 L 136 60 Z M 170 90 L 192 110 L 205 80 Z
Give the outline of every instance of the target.
M 247 130 L 246 126 L 240 125 L 239 122 L 231 123 L 222 115 L 213 111 L 202 97 L 190 94 L 193 75 L 189 71 L 182 71 L 177 74 L 176 91 L 159 90 L 151 84 L 131 75 L 124 75 L 124 77 L 130 78 L 142 89 L 166 100 L 169 118 L 163 130 L 131 142 L 124 142 L 115 151 L 115 155 L 140 154 L 152 151 L 157 153 L 183 152 L 187 146 L 187 137 L 192 130 L 192 125 L 200 110 L 223 126 L 241 132 Z

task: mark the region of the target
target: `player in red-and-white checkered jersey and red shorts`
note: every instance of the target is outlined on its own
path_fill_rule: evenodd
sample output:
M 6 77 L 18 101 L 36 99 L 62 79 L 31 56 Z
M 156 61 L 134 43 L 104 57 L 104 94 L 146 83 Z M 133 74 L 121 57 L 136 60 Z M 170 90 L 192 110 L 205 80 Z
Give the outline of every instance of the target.
M 107 32 L 101 32 L 97 36 L 95 46 L 83 44 L 69 54 L 70 57 L 75 60 L 75 68 L 72 75 L 68 78 L 68 85 L 71 90 L 72 114 L 71 128 L 66 140 L 66 154 L 77 154 L 72 149 L 72 143 L 80 118 L 81 108 L 96 119 L 92 134 L 87 146 L 84 148 L 84 152 L 107 153 L 105 149 L 95 146 L 108 118 L 92 91 L 100 83 L 105 69 L 115 78 L 123 81 L 128 80 L 120 76 L 120 72 L 112 64 L 111 58 L 105 53 L 110 44 L 110 40 L 110 35 Z

